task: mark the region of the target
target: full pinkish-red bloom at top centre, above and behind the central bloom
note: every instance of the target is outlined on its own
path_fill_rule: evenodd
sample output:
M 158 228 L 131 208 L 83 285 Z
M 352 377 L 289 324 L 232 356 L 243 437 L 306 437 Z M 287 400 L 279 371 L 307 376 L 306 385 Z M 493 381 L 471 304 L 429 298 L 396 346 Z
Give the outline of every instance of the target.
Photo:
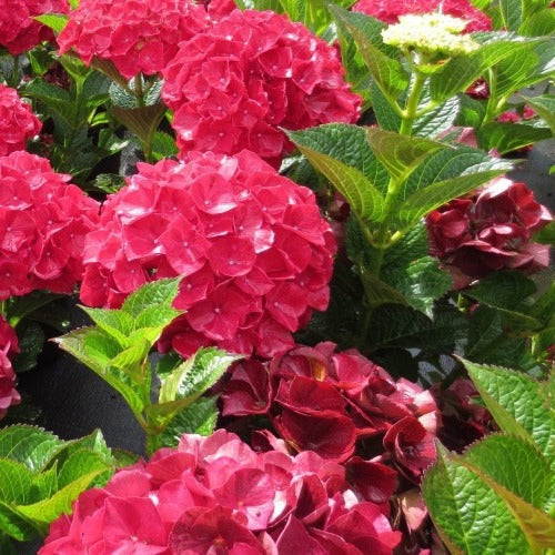
M 271 11 L 235 10 L 183 42 L 163 74 L 185 153 L 249 149 L 276 164 L 292 149 L 279 127 L 354 123 L 360 114 L 336 51 Z

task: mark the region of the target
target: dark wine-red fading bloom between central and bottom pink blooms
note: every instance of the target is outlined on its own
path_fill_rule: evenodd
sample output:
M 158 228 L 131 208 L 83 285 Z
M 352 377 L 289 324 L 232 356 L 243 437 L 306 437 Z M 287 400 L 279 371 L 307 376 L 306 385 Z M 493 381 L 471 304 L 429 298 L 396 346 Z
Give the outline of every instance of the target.
M 357 351 L 297 346 L 269 364 L 236 364 L 222 394 L 224 416 L 265 414 L 294 451 L 344 462 L 359 438 L 383 437 L 390 461 L 417 482 L 435 461 L 437 406 L 431 393 Z M 375 461 L 376 458 L 374 458 Z

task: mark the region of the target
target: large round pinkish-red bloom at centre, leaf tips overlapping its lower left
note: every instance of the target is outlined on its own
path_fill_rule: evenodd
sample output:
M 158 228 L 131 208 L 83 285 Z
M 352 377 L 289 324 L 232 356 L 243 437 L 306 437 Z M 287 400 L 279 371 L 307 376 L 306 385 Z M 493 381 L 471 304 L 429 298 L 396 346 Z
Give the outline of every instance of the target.
M 119 306 L 143 283 L 184 275 L 164 349 L 271 355 L 329 301 L 335 241 L 314 194 L 243 151 L 139 164 L 87 236 L 81 300 Z

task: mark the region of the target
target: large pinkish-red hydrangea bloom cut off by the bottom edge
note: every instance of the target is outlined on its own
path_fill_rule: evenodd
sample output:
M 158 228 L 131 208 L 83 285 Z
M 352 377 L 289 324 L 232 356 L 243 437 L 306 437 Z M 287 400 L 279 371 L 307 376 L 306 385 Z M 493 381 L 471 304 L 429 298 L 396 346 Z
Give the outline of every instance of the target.
M 82 493 L 39 554 L 391 555 L 400 541 L 343 466 L 311 452 L 256 453 L 219 430 L 183 435 L 176 448 Z

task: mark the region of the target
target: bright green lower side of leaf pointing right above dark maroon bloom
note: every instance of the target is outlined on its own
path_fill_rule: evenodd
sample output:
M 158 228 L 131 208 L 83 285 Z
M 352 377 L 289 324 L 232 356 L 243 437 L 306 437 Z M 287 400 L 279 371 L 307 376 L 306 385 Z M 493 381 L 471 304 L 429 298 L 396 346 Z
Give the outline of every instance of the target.
M 492 161 L 491 164 L 484 164 L 483 170 L 480 172 L 437 181 L 416 191 L 401 204 L 396 218 L 398 226 L 403 229 L 412 228 L 422 216 L 436 208 L 505 173 L 506 170 L 503 164 L 500 169 L 495 169 L 495 167 L 496 162 Z

